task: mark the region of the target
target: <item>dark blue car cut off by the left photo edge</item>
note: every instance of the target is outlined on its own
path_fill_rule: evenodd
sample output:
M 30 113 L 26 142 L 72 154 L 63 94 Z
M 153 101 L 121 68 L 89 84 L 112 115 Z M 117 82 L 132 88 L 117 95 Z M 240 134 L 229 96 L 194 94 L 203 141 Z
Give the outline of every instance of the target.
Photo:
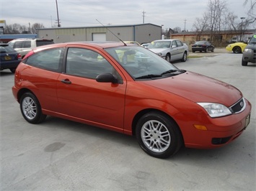
M 9 69 L 12 73 L 22 60 L 22 56 L 8 44 L 0 44 L 0 70 Z

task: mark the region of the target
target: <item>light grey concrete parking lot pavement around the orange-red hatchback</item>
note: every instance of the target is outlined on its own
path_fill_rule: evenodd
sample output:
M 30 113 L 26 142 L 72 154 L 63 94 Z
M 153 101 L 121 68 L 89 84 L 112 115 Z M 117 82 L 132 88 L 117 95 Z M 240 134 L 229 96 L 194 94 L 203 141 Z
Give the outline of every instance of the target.
M 256 66 L 241 59 L 216 51 L 174 63 L 236 86 L 252 114 L 231 144 L 169 159 L 145 154 L 132 136 L 60 118 L 28 124 L 12 95 L 14 74 L 1 71 L 0 190 L 256 190 Z

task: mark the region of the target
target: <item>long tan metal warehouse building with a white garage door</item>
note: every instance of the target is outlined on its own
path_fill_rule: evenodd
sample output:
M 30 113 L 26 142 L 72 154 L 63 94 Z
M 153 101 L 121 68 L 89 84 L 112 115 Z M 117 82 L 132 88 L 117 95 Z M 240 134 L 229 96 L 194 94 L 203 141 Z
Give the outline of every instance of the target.
M 58 27 L 37 29 L 37 37 L 54 42 L 74 41 L 136 41 L 151 42 L 161 39 L 162 26 L 155 24 L 110 25 L 107 27 Z

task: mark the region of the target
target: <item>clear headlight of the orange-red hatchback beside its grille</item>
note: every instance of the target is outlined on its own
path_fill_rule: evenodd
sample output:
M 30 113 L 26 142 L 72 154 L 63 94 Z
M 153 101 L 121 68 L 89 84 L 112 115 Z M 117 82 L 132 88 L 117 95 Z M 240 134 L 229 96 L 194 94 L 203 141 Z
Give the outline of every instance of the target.
M 231 114 L 229 108 L 220 103 L 198 103 L 198 105 L 202 106 L 212 118 Z

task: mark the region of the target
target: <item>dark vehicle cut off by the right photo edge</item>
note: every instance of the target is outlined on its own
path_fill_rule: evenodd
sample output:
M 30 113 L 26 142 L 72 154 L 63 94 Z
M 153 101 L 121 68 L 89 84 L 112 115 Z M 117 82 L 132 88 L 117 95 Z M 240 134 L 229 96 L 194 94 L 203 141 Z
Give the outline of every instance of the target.
M 256 34 L 252 35 L 243 52 L 242 65 L 248 65 L 248 62 L 256 63 Z

